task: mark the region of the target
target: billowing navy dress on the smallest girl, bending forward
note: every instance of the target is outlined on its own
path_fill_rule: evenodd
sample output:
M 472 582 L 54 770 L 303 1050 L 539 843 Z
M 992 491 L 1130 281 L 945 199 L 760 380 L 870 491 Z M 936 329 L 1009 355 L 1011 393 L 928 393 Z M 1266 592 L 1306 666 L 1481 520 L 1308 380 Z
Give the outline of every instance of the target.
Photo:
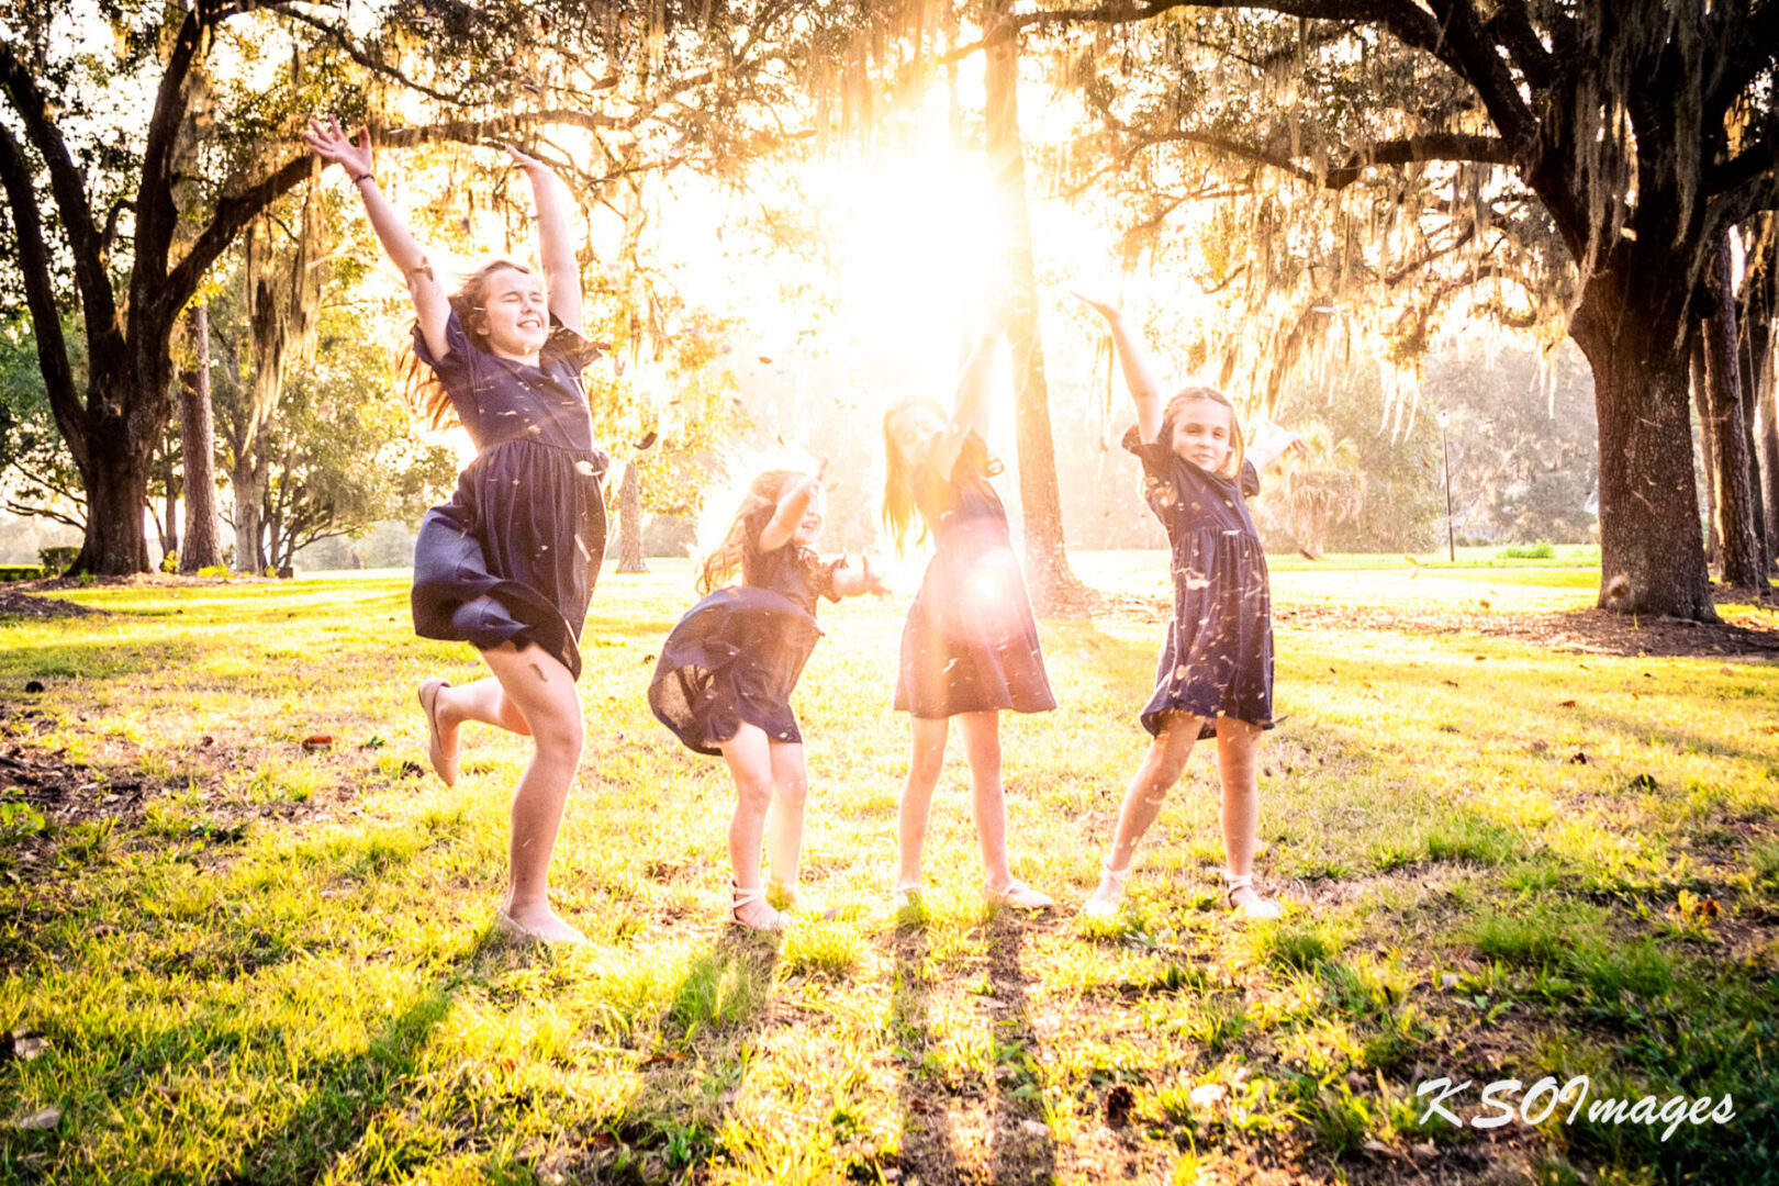
M 790 542 L 761 551 L 772 514 L 774 507 L 758 507 L 745 516 L 742 583 L 687 610 L 655 663 L 649 708 L 699 754 L 722 754 L 744 724 L 774 741 L 802 743 L 790 693 L 822 637 L 820 597 L 840 601 L 834 573 L 845 560 L 824 562 Z

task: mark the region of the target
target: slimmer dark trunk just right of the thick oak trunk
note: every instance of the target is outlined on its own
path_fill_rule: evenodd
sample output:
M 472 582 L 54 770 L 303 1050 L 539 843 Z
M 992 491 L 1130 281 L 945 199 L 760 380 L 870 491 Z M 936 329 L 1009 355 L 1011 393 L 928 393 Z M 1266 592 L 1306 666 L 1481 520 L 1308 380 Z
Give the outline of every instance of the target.
M 1736 311 L 1729 292 L 1729 240 L 1710 256 L 1710 288 L 1717 308 L 1704 320 L 1704 389 L 1711 416 L 1706 436 L 1717 461 L 1717 530 L 1724 549 L 1724 583 L 1767 589 L 1767 565 L 1754 539 L 1747 423 L 1742 418 L 1742 366 L 1736 363 Z

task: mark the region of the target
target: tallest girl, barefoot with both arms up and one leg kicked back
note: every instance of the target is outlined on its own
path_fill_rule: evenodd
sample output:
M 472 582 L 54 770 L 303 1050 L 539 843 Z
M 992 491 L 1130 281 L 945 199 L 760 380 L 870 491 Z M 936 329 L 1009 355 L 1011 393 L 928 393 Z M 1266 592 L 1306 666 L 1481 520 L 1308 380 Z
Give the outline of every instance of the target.
M 543 276 L 495 261 L 447 293 L 377 192 L 368 132 L 354 144 L 333 119 L 311 121 L 304 140 L 345 167 L 377 240 L 407 279 L 415 356 L 432 372 L 418 389 L 422 411 L 434 425 L 461 421 L 477 446 L 457 493 L 420 525 L 411 601 L 416 633 L 470 642 L 493 674 L 463 686 L 420 685 L 427 756 L 450 786 L 466 720 L 532 738 L 532 761 L 512 789 L 511 878 L 495 926 L 514 939 L 585 942 L 550 909 L 548 884 L 582 750 L 580 628 L 605 551 L 607 455 L 592 445 L 580 386 L 598 350 L 582 320 L 566 187 L 509 148 L 532 185 Z

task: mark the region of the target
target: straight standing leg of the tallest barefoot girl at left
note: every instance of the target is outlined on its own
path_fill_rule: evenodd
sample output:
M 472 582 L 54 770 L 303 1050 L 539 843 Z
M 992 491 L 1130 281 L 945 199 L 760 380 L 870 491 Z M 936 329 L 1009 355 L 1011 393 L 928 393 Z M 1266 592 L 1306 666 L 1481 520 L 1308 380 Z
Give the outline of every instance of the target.
M 585 937 L 550 909 L 550 855 L 585 738 L 580 695 L 568 669 L 535 644 L 518 651 L 505 644 L 484 651 L 482 658 L 535 745 L 512 788 L 511 884 L 503 912 L 534 939 L 584 942 Z

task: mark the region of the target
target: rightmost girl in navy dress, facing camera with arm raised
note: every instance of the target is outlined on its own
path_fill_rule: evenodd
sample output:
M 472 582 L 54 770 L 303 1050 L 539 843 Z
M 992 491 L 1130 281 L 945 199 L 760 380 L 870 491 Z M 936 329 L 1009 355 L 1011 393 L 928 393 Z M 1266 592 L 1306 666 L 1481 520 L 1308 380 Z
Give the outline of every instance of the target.
M 1117 910 L 1131 853 L 1185 772 L 1192 743 L 1217 738 L 1226 900 L 1244 918 L 1277 918 L 1277 903 L 1254 891 L 1256 750 L 1261 731 L 1272 727 L 1272 594 L 1244 498 L 1260 493 L 1260 469 L 1302 443 L 1274 430 L 1263 445 L 1244 450 L 1235 407 L 1215 388 L 1185 388 L 1163 398 L 1147 352 L 1117 306 L 1083 301 L 1112 327 L 1137 404 L 1124 448 L 1142 461 L 1144 496 L 1174 551 L 1174 617 L 1155 693 L 1142 708 L 1153 741 L 1124 791 L 1099 887 L 1082 909 L 1096 918 Z

